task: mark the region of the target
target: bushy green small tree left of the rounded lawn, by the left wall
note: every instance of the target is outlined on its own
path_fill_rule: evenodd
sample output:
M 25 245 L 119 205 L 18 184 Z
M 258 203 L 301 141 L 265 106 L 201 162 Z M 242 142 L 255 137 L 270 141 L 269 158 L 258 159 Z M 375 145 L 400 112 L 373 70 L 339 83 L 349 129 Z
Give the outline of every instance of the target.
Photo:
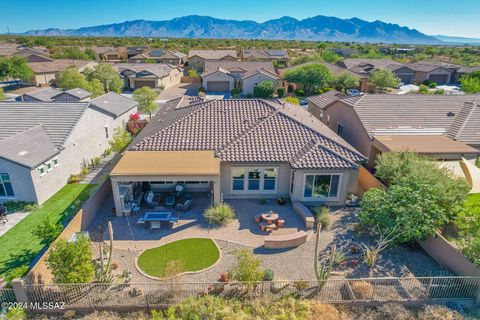
M 59 239 L 50 250 L 46 262 L 55 283 L 90 282 L 95 274 L 92 246 L 83 235 L 76 242 Z

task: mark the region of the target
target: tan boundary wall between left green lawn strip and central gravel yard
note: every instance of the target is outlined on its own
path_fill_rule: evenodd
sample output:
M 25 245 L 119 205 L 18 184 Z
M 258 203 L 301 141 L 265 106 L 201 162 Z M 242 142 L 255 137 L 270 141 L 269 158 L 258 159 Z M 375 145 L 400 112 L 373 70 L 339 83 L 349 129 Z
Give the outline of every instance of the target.
M 72 234 L 86 231 L 111 194 L 112 184 L 110 179 L 107 179 L 73 216 L 55 241 L 58 241 L 58 239 L 68 240 Z M 48 284 L 52 282 L 52 273 L 47 268 L 45 262 L 49 250 L 50 248 L 43 253 L 42 257 L 38 259 L 37 263 L 35 263 L 30 269 L 30 272 L 24 277 L 27 283 Z

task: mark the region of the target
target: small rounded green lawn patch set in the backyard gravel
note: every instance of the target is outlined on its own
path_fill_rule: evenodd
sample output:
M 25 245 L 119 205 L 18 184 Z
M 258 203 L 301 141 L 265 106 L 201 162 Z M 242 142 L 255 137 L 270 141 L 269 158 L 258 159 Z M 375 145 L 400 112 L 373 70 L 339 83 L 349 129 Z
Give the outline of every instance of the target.
M 198 271 L 213 265 L 220 251 L 211 239 L 191 238 L 168 243 L 158 248 L 145 250 L 138 257 L 138 266 L 146 274 L 165 277 L 168 261 L 180 261 L 179 272 Z

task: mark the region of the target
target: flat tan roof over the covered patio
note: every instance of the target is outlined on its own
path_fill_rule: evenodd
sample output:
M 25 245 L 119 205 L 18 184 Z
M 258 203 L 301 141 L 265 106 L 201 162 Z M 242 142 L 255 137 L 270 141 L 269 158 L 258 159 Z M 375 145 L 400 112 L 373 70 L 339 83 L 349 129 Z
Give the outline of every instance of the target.
M 213 151 L 127 151 L 112 176 L 218 176 L 220 159 Z

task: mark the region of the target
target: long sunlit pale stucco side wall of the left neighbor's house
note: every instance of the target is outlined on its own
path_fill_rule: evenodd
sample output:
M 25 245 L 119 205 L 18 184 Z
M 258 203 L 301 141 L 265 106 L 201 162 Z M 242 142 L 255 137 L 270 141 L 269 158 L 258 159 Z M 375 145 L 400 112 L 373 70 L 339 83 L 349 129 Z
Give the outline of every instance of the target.
M 65 149 L 58 155 L 58 166 L 42 177 L 38 169 L 32 171 L 37 201 L 43 203 L 67 183 L 70 175 L 78 174 L 84 163 L 88 164 L 92 158 L 101 156 L 109 147 L 108 140 L 113 130 L 124 127 L 128 116 L 135 111 L 136 108 L 113 119 L 110 115 L 88 108 L 67 139 Z M 105 126 L 108 126 L 108 138 Z

